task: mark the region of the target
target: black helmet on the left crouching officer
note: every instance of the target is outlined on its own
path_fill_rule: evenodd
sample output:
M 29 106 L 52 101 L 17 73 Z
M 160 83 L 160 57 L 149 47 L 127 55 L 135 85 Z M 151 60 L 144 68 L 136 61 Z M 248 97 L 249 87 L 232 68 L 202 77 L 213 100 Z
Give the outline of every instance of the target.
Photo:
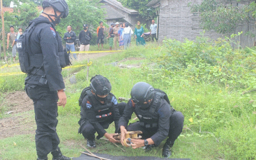
M 109 79 L 102 75 L 95 75 L 90 79 L 90 87 L 96 95 L 107 95 L 111 91 L 111 84 Z

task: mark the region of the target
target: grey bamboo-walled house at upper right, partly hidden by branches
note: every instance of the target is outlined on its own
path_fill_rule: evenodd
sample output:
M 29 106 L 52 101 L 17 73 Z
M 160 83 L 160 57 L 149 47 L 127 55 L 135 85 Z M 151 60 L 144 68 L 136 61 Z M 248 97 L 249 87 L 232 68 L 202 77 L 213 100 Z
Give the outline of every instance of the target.
M 188 7 L 188 3 L 200 4 L 203 0 L 152 0 L 146 6 L 150 6 L 156 9 L 157 25 L 158 25 L 158 38 L 162 41 L 164 38 L 176 39 L 184 41 L 185 38 L 189 40 L 195 40 L 196 36 L 200 36 L 203 32 L 203 28 L 200 26 L 199 13 L 193 14 Z M 237 3 L 233 4 L 239 5 Z M 240 4 L 241 5 L 241 4 Z M 242 5 L 241 5 L 242 6 Z M 240 7 L 240 6 L 236 6 Z M 255 33 L 255 24 L 237 26 L 234 34 L 243 31 Z M 211 39 L 217 39 L 223 37 L 222 34 L 214 31 L 206 31 L 204 36 Z M 239 41 L 239 45 L 254 46 L 255 37 L 249 37 L 245 34 L 241 34 L 235 38 L 235 41 Z M 235 46 L 232 44 L 233 47 Z

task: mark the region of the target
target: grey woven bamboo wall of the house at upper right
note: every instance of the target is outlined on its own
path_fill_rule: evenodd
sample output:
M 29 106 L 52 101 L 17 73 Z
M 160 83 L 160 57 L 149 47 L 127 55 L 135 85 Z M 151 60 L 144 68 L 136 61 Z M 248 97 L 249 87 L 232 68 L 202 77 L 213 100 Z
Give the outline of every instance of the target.
M 191 0 L 168 0 L 168 5 L 160 7 L 159 40 L 165 37 L 183 41 L 185 38 L 195 40 L 203 29 L 199 26 L 199 14 L 192 14 L 188 3 Z M 167 4 L 167 3 L 166 3 Z M 212 39 L 221 37 L 215 32 L 206 32 Z

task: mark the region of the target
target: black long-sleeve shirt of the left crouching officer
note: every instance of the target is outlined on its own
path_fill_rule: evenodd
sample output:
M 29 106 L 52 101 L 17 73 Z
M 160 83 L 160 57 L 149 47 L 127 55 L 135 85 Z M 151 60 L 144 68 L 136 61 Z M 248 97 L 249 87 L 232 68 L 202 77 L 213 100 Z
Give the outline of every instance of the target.
M 104 119 L 106 119 L 106 122 L 115 122 L 115 132 L 117 133 L 120 114 L 117 107 L 118 102 L 115 96 L 112 93 L 109 93 L 109 95 L 107 95 L 107 104 L 100 103 L 92 96 L 94 95 L 90 94 L 83 98 L 80 109 L 81 118 L 78 122 L 79 125 L 82 125 L 85 121 L 89 121 L 98 133 L 99 136 L 97 136 L 97 139 L 99 139 L 107 132 L 101 125 L 101 123 L 105 122 Z M 104 110 L 106 110 L 105 113 L 103 112 Z M 96 118 L 96 115 L 100 112 L 108 114 L 109 111 L 111 111 L 111 115 L 109 115 L 110 117 L 104 118 L 103 120 L 101 120 L 101 118 Z

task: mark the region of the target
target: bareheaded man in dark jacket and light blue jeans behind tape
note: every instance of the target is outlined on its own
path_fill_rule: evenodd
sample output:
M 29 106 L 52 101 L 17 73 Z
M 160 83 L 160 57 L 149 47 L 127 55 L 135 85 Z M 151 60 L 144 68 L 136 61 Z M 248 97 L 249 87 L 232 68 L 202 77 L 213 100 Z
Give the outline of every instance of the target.
M 75 35 L 74 31 L 71 31 L 71 26 L 67 26 L 67 31 L 64 34 L 63 40 L 66 42 L 66 48 L 72 52 L 75 51 L 75 39 L 77 39 L 77 36 Z M 77 54 L 73 53 L 73 57 L 77 59 Z

